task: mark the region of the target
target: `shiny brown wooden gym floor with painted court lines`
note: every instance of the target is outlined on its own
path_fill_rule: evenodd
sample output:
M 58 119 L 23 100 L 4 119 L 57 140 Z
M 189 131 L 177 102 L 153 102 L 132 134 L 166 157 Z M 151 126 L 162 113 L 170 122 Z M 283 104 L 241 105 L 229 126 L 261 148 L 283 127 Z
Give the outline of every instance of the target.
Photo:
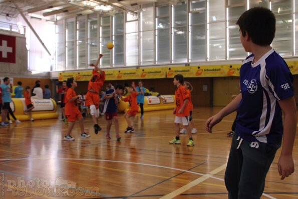
M 135 133 L 125 134 L 126 122 L 119 114 L 121 141 L 105 139 L 103 130 L 93 132 L 91 118 L 85 118 L 90 138 L 80 138 L 75 125 L 75 141 L 65 141 L 67 124 L 57 119 L 22 122 L 0 128 L 1 198 L 227 198 L 224 171 L 234 114 L 214 127 L 204 130 L 205 120 L 222 107 L 200 107 L 193 113 L 198 132 L 194 147 L 187 147 L 187 135 L 181 145 L 170 145 L 174 137 L 171 110 L 145 112 L 134 119 Z M 297 138 L 297 136 L 296 136 Z M 276 157 L 266 177 L 262 198 L 298 198 L 298 171 L 280 180 Z M 296 170 L 298 141 L 293 157 Z M 68 184 L 65 189 L 55 184 Z M 51 189 L 52 188 L 52 189 Z M 36 196 L 38 195 L 38 196 Z

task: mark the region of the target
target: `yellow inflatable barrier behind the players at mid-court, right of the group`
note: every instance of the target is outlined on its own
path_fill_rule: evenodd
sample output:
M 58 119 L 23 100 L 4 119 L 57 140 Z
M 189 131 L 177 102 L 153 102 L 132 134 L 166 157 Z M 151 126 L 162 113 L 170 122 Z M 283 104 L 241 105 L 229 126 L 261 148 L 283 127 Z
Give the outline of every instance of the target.
M 164 99 L 164 103 L 157 96 L 145 96 L 144 97 L 144 111 L 158 111 L 174 109 L 176 107 L 175 95 L 161 95 Z M 120 101 L 118 105 L 119 112 L 126 112 L 129 109 L 129 103 Z M 139 112 L 140 112 L 139 108 Z

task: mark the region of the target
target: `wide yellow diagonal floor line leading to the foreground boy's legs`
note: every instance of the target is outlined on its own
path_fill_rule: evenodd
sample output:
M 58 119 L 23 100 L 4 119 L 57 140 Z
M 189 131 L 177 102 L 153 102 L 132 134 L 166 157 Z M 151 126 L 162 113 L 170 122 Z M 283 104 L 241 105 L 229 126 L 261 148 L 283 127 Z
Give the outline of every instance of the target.
M 172 198 L 176 197 L 177 195 L 180 195 L 181 193 L 187 191 L 188 189 L 190 189 L 190 188 L 198 185 L 199 183 L 205 181 L 209 177 L 212 177 L 214 174 L 219 173 L 220 171 L 222 171 L 225 168 L 226 168 L 226 164 L 223 164 L 223 165 L 215 168 L 214 170 L 210 171 L 206 175 L 201 176 L 201 177 L 189 182 L 188 184 L 185 184 L 184 186 L 181 186 L 180 188 L 174 190 L 173 192 L 170 192 L 170 193 L 160 197 L 160 199 L 172 199 Z

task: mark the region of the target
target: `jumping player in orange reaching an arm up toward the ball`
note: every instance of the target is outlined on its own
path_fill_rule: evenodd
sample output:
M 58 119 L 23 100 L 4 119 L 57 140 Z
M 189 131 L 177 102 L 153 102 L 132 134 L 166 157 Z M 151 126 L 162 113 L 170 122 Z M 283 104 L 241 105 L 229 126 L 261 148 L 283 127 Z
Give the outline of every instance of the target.
M 90 113 L 92 115 L 92 120 L 94 122 L 94 132 L 95 134 L 101 130 L 98 125 L 99 118 L 99 92 L 106 79 L 106 74 L 104 71 L 100 70 L 98 63 L 103 57 L 102 54 L 99 55 L 96 64 L 90 64 L 94 69 L 92 71 L 92 78 L 88 83 L 88 92 L 86 95 L 86 106 L 89 106 Z

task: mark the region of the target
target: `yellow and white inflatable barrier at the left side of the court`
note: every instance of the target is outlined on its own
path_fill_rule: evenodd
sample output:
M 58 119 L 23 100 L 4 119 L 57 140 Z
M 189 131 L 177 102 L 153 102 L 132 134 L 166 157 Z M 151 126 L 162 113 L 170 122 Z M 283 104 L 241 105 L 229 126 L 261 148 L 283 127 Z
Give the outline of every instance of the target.
M 13 98 L 12 100 L 10 105 L 16 118 L 21 121 L 30 120 L 29 114 L 25 114 L 25 110 L 27 109 L 25 98 Z M 58 118 L 59 114 L 57 113 L 55 100 L 31 98 L 31 101 L 34 105 L 32 117 L 35 120 Z

